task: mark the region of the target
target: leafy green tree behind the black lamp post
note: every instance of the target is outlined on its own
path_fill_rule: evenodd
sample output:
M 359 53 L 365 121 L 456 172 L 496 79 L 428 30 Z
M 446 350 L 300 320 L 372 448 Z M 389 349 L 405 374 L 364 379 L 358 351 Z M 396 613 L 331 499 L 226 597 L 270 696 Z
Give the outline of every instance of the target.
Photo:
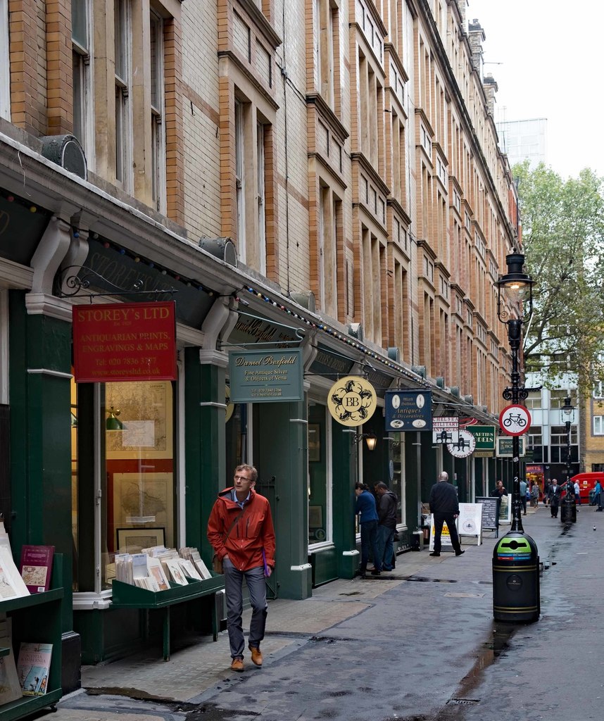
M 563 180 L 528 161 L 513 174 L 525 270 L 536 281 L 525 370 L 540 371 L 546 383 L 576 373 L 585 387 L 604 376 L 604 178 L 584 169 Z

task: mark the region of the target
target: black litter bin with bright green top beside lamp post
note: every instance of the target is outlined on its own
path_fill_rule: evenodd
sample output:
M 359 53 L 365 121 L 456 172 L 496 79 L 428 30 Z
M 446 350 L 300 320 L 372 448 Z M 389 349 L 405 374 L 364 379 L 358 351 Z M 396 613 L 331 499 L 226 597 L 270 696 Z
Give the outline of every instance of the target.
M 493 617 L 533 622 L 540 612 L 537 545 L 530 536 L 510 531 L 493 550 Z

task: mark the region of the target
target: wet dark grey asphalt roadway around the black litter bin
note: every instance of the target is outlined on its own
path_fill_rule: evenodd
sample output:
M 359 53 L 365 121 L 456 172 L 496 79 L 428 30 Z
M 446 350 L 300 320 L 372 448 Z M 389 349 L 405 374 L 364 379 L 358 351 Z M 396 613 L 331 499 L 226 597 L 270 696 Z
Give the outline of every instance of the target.
M 422 551 L 421 575 L 400 583 L 355 581 L 384 591 L 318 636 L 281 631 L 292 642 L 264 668 L 231 674 L 186 703 L 81 694 L 64 707 L 81 709 L 81 718 L 86 709 L 86 719 L 112 709 L 116 721 L 141 713 L 163 721 L 599 720 L 604 514 L 584 507 L 577 519 L 564 528 L 543 506 L 523 517 L 549 566 L 536 623 L 493 621 L 497 541 L 487 538 L 459 558 Z

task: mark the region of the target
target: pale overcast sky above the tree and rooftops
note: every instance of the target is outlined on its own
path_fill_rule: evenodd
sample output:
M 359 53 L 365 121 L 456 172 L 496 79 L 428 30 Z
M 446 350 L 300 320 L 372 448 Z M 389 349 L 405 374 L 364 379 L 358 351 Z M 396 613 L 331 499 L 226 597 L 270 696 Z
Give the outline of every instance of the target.
M 469 0 L 474 18 L 499 86 L 495 120 L 547 118 L 547 164 L 604 176 L 604 2 Z

